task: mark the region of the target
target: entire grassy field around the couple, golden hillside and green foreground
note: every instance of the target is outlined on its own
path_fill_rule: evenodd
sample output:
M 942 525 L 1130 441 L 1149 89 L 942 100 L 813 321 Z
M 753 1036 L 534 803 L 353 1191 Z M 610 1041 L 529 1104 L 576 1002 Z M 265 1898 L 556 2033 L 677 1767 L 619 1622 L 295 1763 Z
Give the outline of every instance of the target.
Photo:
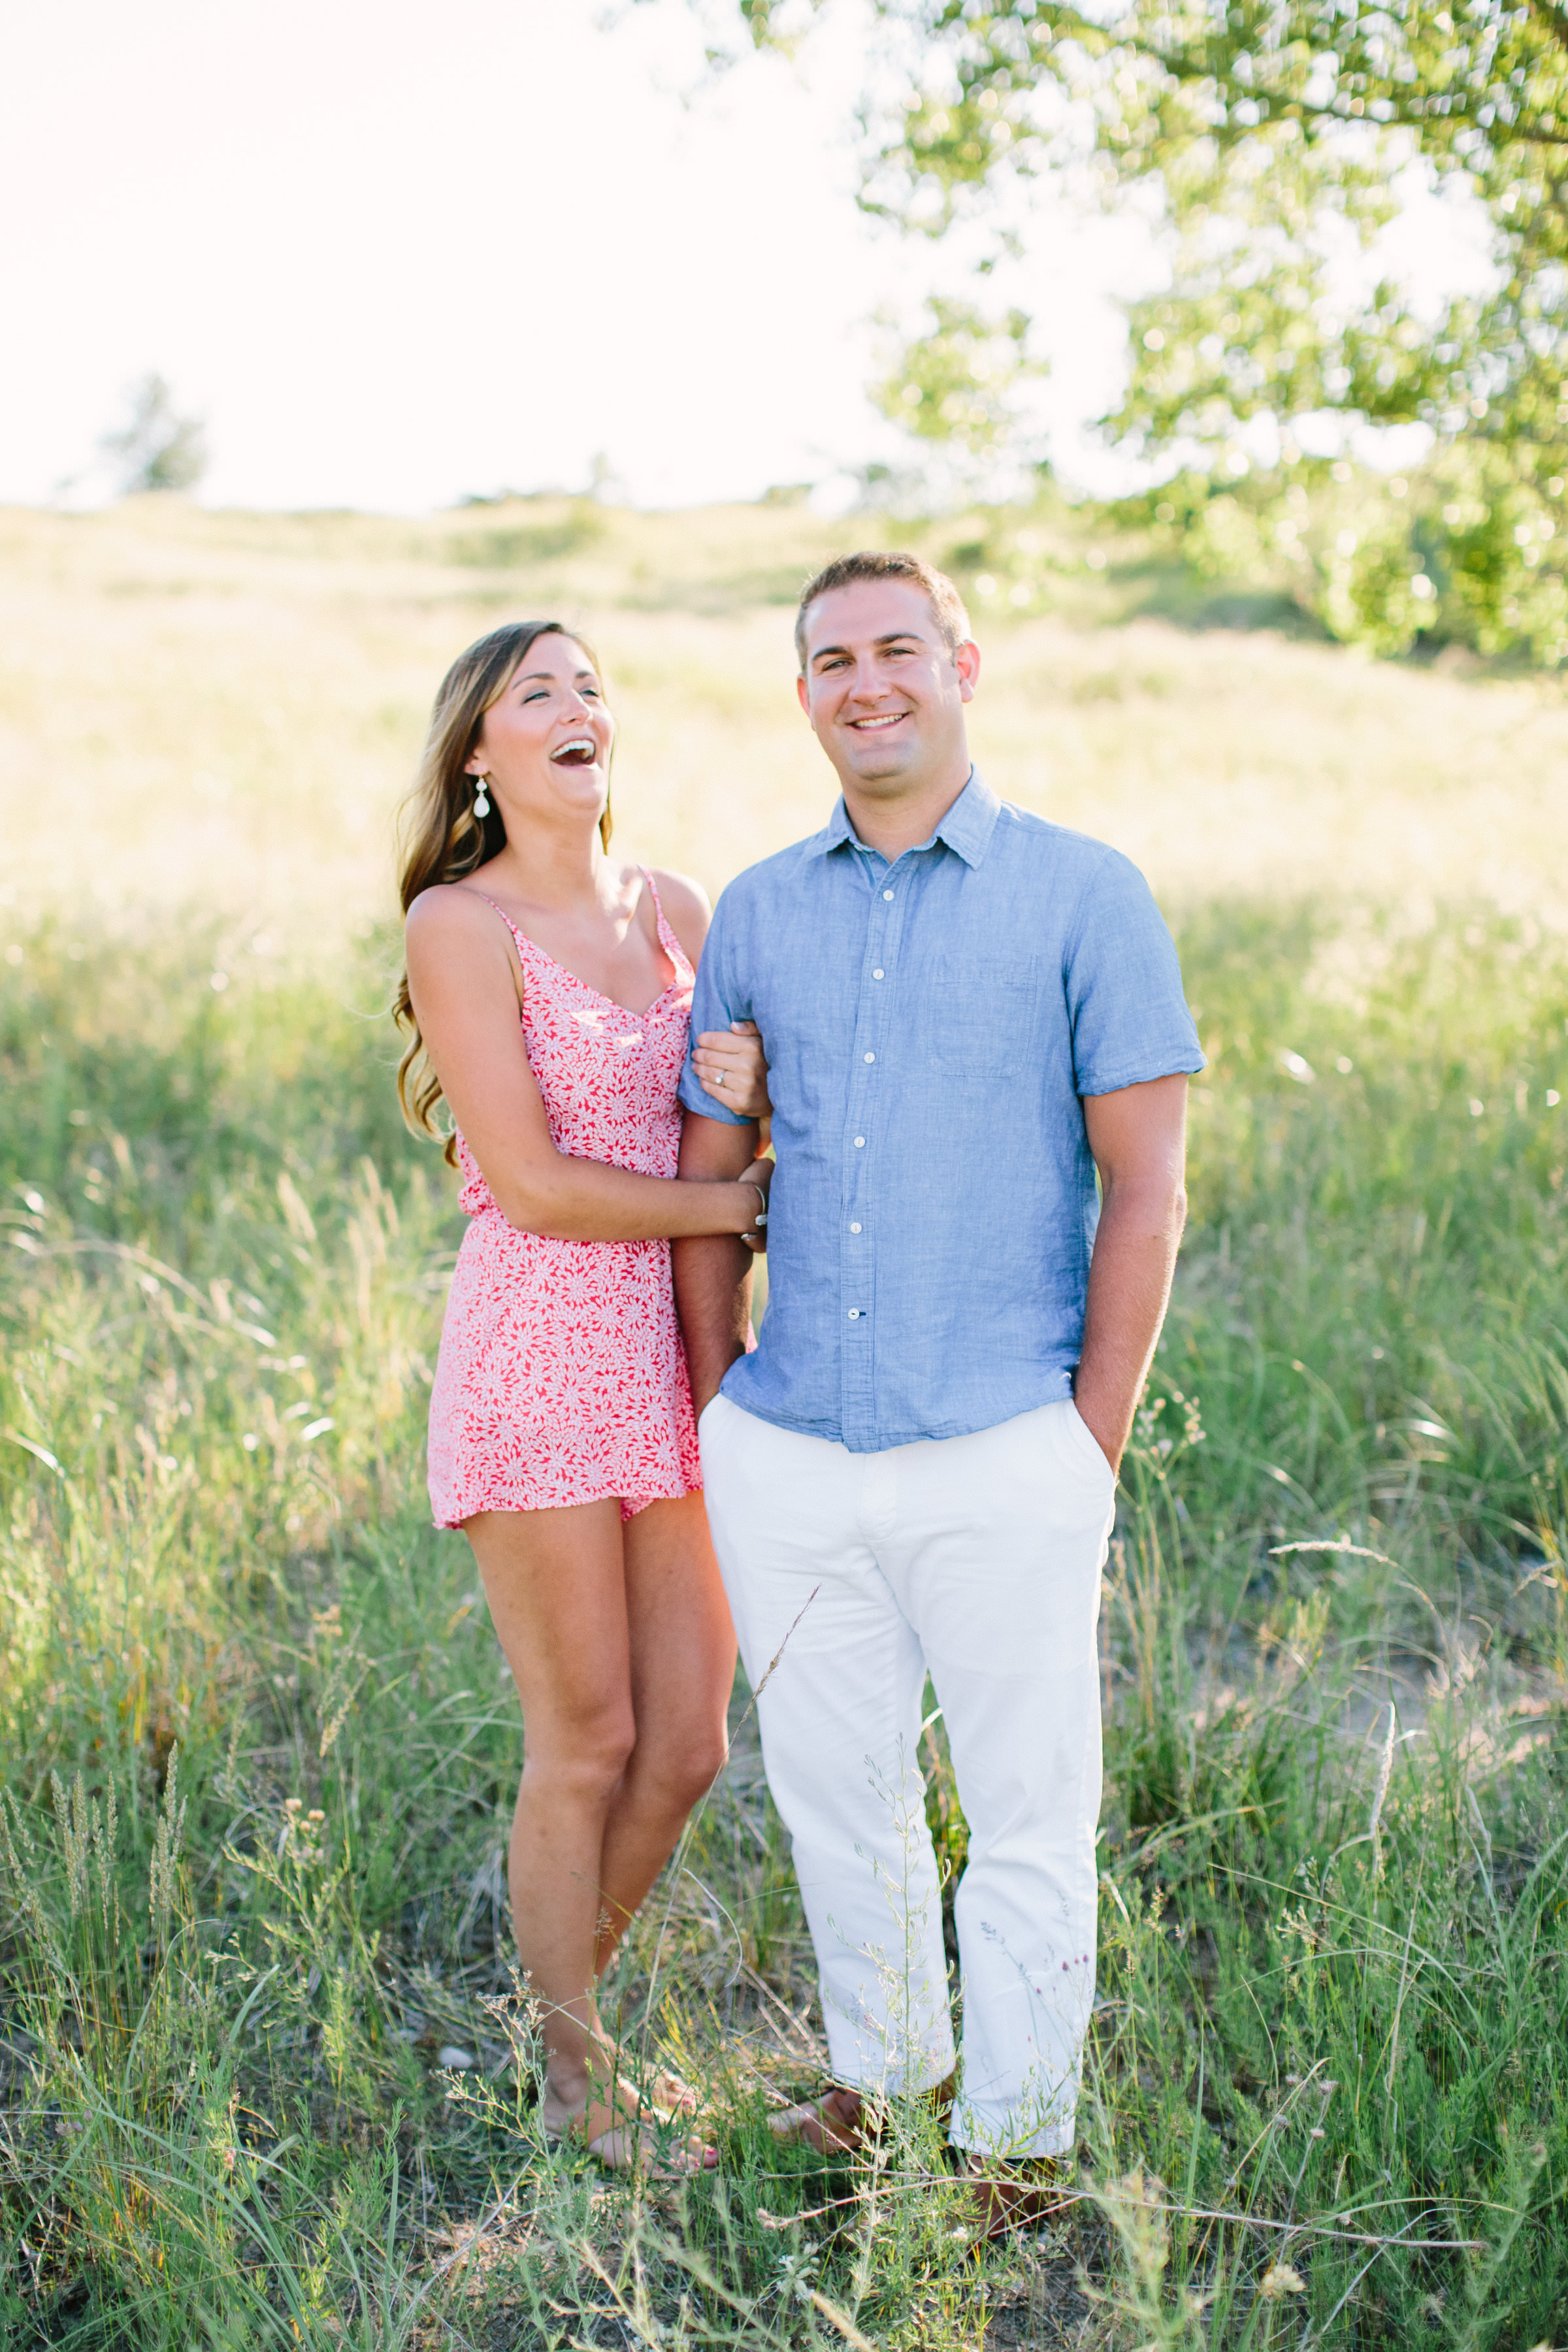
M 538 2145 L 522 1726 L 423 1503 L 461 1221 L 381 1011 L 449 654 L 581 616 L 621 837 L 717 887 L 827 807 L 788 597 L 846 534 L 0 517 L 7 2345 L 1568 2340 L 1568 710 L 1178 626 L 1051 532 L 978 750 L 1147 866 L 1211 1070 L 1107 1578 L 1079 2197 L 980 2249 L 919 2117 L 846 2171 L 766 2133 L 820 2044 L 745 1691 L 614 1987 L 724 2169 Z

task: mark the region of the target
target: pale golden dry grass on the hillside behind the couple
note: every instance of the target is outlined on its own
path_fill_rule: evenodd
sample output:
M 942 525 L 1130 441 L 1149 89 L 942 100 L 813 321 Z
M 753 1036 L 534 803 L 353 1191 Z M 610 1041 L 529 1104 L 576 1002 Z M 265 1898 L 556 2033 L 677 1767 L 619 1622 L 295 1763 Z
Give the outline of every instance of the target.
M 390 913 L 393 814 L 435 682 L 482 628 L 541 609 L 609 663 L 618 847 L 717 889 L 832 802 L 795 708 L 792 593 L 877 529 L 574 501 L 425 520 L 9 510 L 0 908 L 118 927 L 205 906 L 292 950 Z M 1107 626 L 1105 590 L 1067 574 L 1058 607 L 978 619 L 976 753 L 1004 795 L 1124 847 L 1166 903 L 1352 896 L 1420 922 L 1483 896 L 1568 927 L 1561 689 Z

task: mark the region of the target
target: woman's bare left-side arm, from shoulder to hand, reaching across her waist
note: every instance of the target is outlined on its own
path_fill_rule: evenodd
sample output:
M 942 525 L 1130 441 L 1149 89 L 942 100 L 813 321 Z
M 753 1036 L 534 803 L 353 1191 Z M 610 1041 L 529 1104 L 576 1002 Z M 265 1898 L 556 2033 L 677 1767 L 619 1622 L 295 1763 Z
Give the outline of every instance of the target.
M 755 1228 L 750 1183 L 637 1176 L 557 1152 L 522 1044 L 517 953 L 475 891 L 423 891 L 409 908 L 407 948 L 409 995 L 442 1094 L 496 1207 L 520 1232 L 639 1242 Z

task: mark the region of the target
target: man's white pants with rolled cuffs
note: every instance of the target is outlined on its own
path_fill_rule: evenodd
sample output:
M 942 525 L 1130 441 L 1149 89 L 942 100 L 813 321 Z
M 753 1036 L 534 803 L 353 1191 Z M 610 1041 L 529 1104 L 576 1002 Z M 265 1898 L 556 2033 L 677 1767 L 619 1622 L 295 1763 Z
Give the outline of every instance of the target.
M 917 1759 L 929 1670 L 969 1820 L 952 2138 L 1060 2154 L 1095 1978 L 1110 1463 L 1072 1402 L 849 1454 L 715 1397 L 701 1439 L 835 2077 L 924 2089 L 954 2063 Z

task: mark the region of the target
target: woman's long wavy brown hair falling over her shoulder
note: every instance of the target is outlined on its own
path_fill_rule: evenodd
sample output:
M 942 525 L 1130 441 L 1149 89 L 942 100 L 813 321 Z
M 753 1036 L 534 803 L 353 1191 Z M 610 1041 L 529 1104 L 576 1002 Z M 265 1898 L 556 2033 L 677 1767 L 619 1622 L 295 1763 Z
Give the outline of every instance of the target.
M 430 734 L 407 800 L 404 858 L 397 884 L 404 915 L 423 889 L 435 882 L 461 882 L 475 866 L 487 866 L 505 849 L 505 823 L 494 793 L 489 795 L 489 816 L 473 814 L 475 779 L 468 774 L 468 760 L 480 739 L 484 713 L 501 701 L 508 680 L 536 637 L 571 637 L 574 644 L 583 647 L 595 670 L 599 668 L 592 647 L 583 644 L 578 633 L 562 621 L 508 621 L 505 628 L 491 628 L 489 637 L 480 637 L 465 654 L 458 654 L 435 696 Z M 609 804 L 599 818 L 599 840 L 609 849 Z M 409 1037 L 397 1063 L 402 1115 L 414 1134 L 444 1141 L 447 1160 L 456 1167 L 456 1136 L 435 1124 L 442 1082 L 414 1018 L 407 964 L 397 981 L 393 1011 L 397 1028 Z

